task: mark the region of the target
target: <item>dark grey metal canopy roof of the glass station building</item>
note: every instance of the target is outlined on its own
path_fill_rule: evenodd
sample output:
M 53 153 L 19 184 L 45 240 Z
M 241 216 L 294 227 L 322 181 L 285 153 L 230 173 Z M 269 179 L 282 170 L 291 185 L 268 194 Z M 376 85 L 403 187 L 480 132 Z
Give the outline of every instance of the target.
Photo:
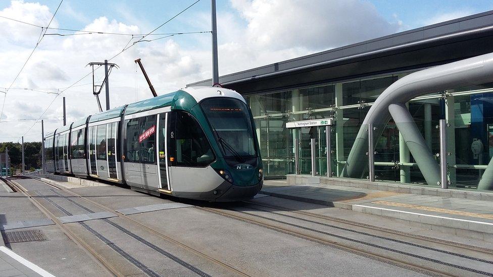
M 248 94 L 434 66 L 492 49 L 493 11 L 488 11 L 228 74 L 219 81 Z

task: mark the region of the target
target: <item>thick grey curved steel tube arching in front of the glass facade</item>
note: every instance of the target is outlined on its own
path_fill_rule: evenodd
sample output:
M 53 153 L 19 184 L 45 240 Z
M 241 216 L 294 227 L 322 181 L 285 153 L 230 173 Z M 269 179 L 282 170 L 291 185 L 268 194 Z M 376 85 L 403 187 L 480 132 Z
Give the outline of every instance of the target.
M 368 149 L 368 133 L 365 131 L 366 126 L 368 126 L 369 123 L 372 123 L 374 127 L 377 127 L 374 133 L 374 141 L 376 143 L 378 141 L 377 138 L 381 136 L 385 125 L 390 120 L 391 115 L 389 111 L 389 106 L 391 104 L 404 105 L 409 100 L 430 92 L 443 91 L 461 86 L 484 84 L 488 82 L 493 82 L 493 53 L 484 54 L 474 58 L 469 58 L 466 60 L 441 65 L 430 69 L 425 69 L 409 74 L 402 79 L 397 80 L 387 89 L 385 89 L 382 94 L 380 94 L 380 96 L 376 99 L 375 103 L 368 111 L 368 114 L 361 124 L 358 135 L 356 136 L 353 148 L 349 153 L 347 163 L 344 166 L 342 172 L 342 176 L 351 178 L 363 178 L 368 168 L 368 158 L 365 155 Z M 400 127 L 399 130 L 404 130 L 402 128 L 403 127 Z M 414 138 L 416 138 L 417 134 L 415 134 L 415 132 L 416 130 L 411 131 L 408 136 L 412 135 Z M 418 135 L 421 136 L 421 134 Z M 411 139 L 409 141 L 411 141 Z M 410 144 L 408 143 L 408 146 L 409 145 Z M 416 159 L 416 161 L 421 161 L 418 162 L 418 167 L 422 169 L 423 165 L 420 165 L 420 163 L 422 164 L 424 162 L 426 164 L 426 161 L 428 161 L 429 159 L 426 157 L 428 154 L 420 149 L 417 155 L 418 156 L 414 155 L 413 153 L 413 157 Z M 430 171 L 434 172 L 434 170 Z M 489 176 L 487 174 L 493 175 L 493 168 L 488 167 L 488 169 L 483 174 L 483 179 L 493 179 L 493 176 Z M 427 175 L 431 175 L 431 173 L 427 173 Z M 437 178 L 438 176 L 439 174 L 435 175 L 435 177 L 433 178 Z M 431 180 L 433 180 L 433 178 L 425 177 L 425 179 L 427 179 L 427 182 L 428 179 L 430 180 L 429 182 L 432 182 Z M 436 182 L 434 184 L 436 184 Z M 482 180 L 480 182 L 480 185 L 481 184 Z

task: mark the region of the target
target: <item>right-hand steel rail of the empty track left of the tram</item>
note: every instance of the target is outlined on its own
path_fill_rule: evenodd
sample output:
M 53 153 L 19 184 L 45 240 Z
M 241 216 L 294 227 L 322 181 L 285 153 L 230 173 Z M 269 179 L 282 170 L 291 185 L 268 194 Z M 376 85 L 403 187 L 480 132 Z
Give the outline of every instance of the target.
M 93 201 L 93 200 L 91 200 L 91 199 L 88 199 L 87 197 L 81 196 L 80 194 L 77 194 L 77 193 L 75 193 L 75 192 L 72 192 L 72 191 L 70 191 L 70 190 L 67 190 L 67 189 L 65 189 L 65 188 L 63 188 L 63 187 L 58 187 L 58 186 L 56 186 L 56 185 L 53 185 L 53 184 L 50 184 L 50 183 L 44 182 L 43 180 L 39 180 L 38 178 L 35 178 L 35 177 L 31 177 L 31 176 L 29 176 L 29 177 L 27 177 L 27 178 L 28 178 L 28 179 L 32 179 L 32 180 L 36 180 L 36 181 L 41 182 L 41 183 L 43 183 L 43 184 L 46 184 L 46 185 L 48 185 L 48 186 L 54 187 L 54 188 L 56 188 L 56 189 L 59 189 L 59 190 L 61 190 L 61 191 L 66 192 L 66 193 L 68 193 L 68 194 L 71 194 L 71 195 L 73 195 L 74 197 L 80 198 L 80 199 L 82 199 L 82 200 L 84 200 L 84 201 L 86 201 L 86 202 L 88 202 L 88 203 L 90 203 L 90 204 L 93 204 L 93 205 L 95 205 L 95 206 L 97 206 L 97 207 L 100 207 L 100 208 L 102 208 L 102 209 L 104 209 L 104 210 L 106 210 L 106 211 L 109 211 L 109 212 L 115 213 L 115 210 L 114 210 L 114 209 L 111 209 L 111 208 L 109 208 L 109 207 L 107 207 L 107 206 L 105 206 L 105 205 L 103 205 L 103 204 L 97 203 L 97 202 L 95 202 L 95 201 Z M 234 272 L 235 274 L 238 274 L 238 275 L 240 275 L 240 276 L 245 276 L 245 277 L 250 276 L 250 275 L 248 275 L 248 274 L 246 274 L 246 273 L 244 273 L 244 272 L 240 271 L 239 269 L 234 268 L 232 265 L 229 265 L 229 264 L 227 264 L 227 263 L 225 263 L 225 262 L 222 262 L 222 261 L 220 261 L 220 260 L 218 260 L 218 259 L 216 259 L 216 258 L 214 258 L 214 257 L 211 257 L 211 256 L 209 256 L 209 255 L 207 255 L 207 254 L 205 254 L 205 253 L 203 253 L 203 252 L 201 252 L 201 251 L 199 251 L 199 250 L 196 250 L 196 249 L 194 249 L 194 248 L 192 248 L 192 247 L 190 247 L 190 246 L 188 246 L 188 245 L 186 245 L 186 244 L 184 244 L 184 243 L 181 243 L 181 242 L 179 242 L 179 241 L 177 241 L 177 240 L 175 240 L 175 239 L 173 239 L 173 238 L 171 238 L 171 237 L 169 237 L 169 236 L 167 236 L 167 235 L 164 235 L 164 234 L 162 234 L 162 233 L 159 233 L 158 231 L 156 231 L 156 230 L 154 230 L 154 229 L 152 229 L 152 228 L 150 228 L 150 227 L 147 227 L 147 226 L 145 226 L 145 225 L 143 225 L 143 224 L 139 223 L 138 221 L 136 221 L 136 220 L 134 220 L 134 219 L 130 218 L 130 217 L 129 217 L 129 216 L 127 216 L 127 215 L 124 215 L 124 214 L 121 214 L 121 213 L 118 213 L 118 212 L 116 213 L 116 215 L 118 215 L 118 217 L 121 217 L 121 218 L 126 219 L 126 220 L 128 220 L 128 221 L 131 221 L 133 224 L 135 224 L 135 225 L 137 225 L 137 226 L 139 226 L 139 227 L 141 227 L 141 228 L 145 229 L 146 231 L 149 231 L 149 232 L 151 232 L 151 233 L 153 233 L 153 234 L 155 234 L 155 235 L 157 235 L 157 236 L 161 237 L 162 239 L 165 239 L 165 240 L 167 240 L 167 241 L 169 241 L 169 242 L 171 242 L 171 243 L 174 243 L 174 244 L 176 244 L 176 245 L 178 245 L 178 246 L 180 246 L 180 247 L 183 247 L 184 249 L 186 249 L 186 250 L 188 250 L 188 251 L 191 251 L 191 252 L 193 252 L 194 254 L 196 254 L 196 255 L 198 255 L 198 256 L 201 256 L 201 257 L 203 257 L 203 258 L 206 258 L 207 260 L 210 260 L 210 261 L 212 261 L 212 262 L 213 262 L 213 263 L 215 263 L 215 264 L 218 264 L 218 265 L 220 265 L 220 266 L 222 266 L 222 267 L 224 267 L 224 268 L 227 268 L 227 269 L 229 269 L 230 271 Z

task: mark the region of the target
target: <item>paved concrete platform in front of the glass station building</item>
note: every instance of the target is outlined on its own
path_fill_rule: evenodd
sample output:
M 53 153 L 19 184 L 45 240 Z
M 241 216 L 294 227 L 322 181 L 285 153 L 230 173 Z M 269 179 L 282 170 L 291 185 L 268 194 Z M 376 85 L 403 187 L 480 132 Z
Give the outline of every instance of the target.
M 493 201 L 486 201 L 490 193 L 475 192 L 476 199 L 462 192 L 463 198 L 447 195 L 437 196 L 436 188 L 416 187 L 420 194 L 410 193 L 411 189 L 360 186 L 337 186 L 329 184 L 295 184 L 286 180 L 266 180 L 263 194 L 280 198 L 351 209 L 358 212 L 398 218 L 409 221 L 421 228 L 493 242 Z M 390 188 L 390 189 L 389 189 Z M 426 195 L 428 189 L 434 195 Z M 481 194 L 484 195 L 481 198 Z M 493 194 L 492 194 L 493 195 Z

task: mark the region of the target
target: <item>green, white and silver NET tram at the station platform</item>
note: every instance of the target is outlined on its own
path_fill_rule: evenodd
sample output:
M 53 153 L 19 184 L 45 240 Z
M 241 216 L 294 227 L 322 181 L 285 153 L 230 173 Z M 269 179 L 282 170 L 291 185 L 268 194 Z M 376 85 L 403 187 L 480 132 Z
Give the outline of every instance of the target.
M 238 201 L 263 185 L 252 113 L 237 92 L 188 87 L 116 107 L 44 137 L 49 173 L 135 191 Z

